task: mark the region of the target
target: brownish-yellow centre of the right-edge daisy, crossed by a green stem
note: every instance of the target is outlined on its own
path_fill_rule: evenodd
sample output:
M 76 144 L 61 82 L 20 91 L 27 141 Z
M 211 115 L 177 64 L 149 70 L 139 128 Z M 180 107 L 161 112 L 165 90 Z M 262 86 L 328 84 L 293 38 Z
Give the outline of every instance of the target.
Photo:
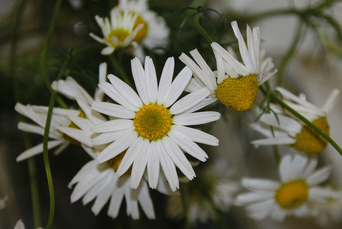
M 330 135 L 330 127 L 326 117 L 320 117 L 312 122 L 327 135 Z M 306 154 L 320 154 L 328 146 L 328 141 L 308 126 L 304 126 L 295 137 L 293 148 Z

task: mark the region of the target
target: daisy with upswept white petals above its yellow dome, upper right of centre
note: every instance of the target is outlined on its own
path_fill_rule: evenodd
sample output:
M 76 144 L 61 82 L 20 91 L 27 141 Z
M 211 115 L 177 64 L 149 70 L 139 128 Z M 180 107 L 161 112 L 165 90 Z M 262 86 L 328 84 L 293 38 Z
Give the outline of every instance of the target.
M 259 85 L 273 76 L 277 70 L 270 72 L 274 67 L 270 58 L 265 59 L 260 65 L 259 27 L 253 28 L 252 31 L 247 25 L 248 48 L 235 21 L 232 22 L 232 27 L 244 63 L 239 62 L 234 53 L 228 52 L 216 42 L 213 42 L 211 47 L 216 58 L 217 73 L 209 68 L 197 49 L 190 52 L 197 64 L 184 53 L 179 59 L 194 72 L 194 78 L 187 86 L 187 91 L 208 87 L 212 102 L 218 99 L 228 108 L 246 111 L 257 98 Z

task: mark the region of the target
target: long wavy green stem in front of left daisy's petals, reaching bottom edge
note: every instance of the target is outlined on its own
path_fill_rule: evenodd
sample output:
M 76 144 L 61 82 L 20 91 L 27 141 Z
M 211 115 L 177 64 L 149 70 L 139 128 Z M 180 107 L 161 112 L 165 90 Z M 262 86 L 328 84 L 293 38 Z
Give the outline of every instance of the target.
M 57 75 L 56 80 L 60 80 L 60 78 L 62 78 L 64 69 L 67 66 L 67 64 L 68 64 L 68 59 L 64 61 L 61 67 L 61 70 Z M 54 191 L 53 191 L 52 175 L 51 175 L 49 155 L 48 155 L 48 139 L 49 139 L 49 130 L 50 130 L 51 117 L 52 117 L 52 110 L 53 110 L 53 105 L 55 103 L 56 94 L 57 94 L 56 91 L 52 91 L 51 93 L 49 109 L 48 109 L 48 114 L 46 117 L 46 123 L 45 123 L 45 128 L 44 128 L 44 137 L 43 137 L 43 157 L 44 157 L 44 165 L 45 165 L 46 176 L 48 179 L 49 194 L 50 194 L 50 213 L 49 213 L 48 225 L 46 226 L 46 229 L 51 229 L 53 217 L 55 213 L 55 196 L 54 196 Z

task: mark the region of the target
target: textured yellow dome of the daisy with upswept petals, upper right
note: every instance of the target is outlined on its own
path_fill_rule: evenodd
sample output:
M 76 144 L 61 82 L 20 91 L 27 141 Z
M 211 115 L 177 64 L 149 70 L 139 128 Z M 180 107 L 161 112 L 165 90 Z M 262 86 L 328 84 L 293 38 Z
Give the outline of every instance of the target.
M 228 77 L 218 85 L 215 95 L 227 108 L 246 111 L 257 98 L 258 84 L 256 75 Z

